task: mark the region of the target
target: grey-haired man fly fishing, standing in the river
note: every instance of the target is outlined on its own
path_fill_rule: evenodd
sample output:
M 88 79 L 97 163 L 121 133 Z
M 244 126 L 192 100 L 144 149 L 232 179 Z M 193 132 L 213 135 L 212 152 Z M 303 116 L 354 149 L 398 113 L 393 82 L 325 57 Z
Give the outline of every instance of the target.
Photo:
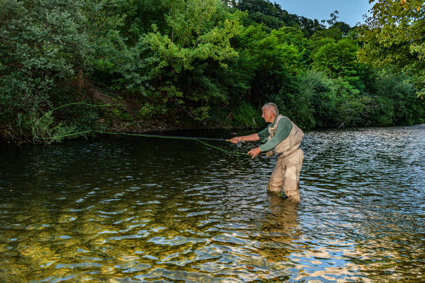
M 266 152 L 268 157 L 276 155 L 278 160 L 270 175 L 267 185 L 268 191 L 280 193 L 299 203 L 299 173 L 303 164 L 303 151 L 299 148 L 303 139 L 303 131 L 297 127 L 288 117 L 278 114 L 278 108 L 274 103 L 266 103 L 263 106 L 263 119 L 270 123 L 264 130 L 246 136 L 233 137 L 233 144 L 238 141 L 258 141 L 264 144 L 251 149 L 248 152 L 252 158 L 260 152 Z

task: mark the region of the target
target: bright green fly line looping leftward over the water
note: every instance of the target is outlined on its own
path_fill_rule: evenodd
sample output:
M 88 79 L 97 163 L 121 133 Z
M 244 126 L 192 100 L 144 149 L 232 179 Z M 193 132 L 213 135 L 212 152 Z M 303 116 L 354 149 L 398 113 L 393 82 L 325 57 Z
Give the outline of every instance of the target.
M 34 127 L 38 125 L 38 123 L 40 122 L 40 120 L 42 120 L 44 117 L 46 117 L 47 115 L 51 114 L 52 112 L 60 109 L 60 108 L 64 108 L 66 106 L 69 105 L 88 105 L 88 106 L 93 106 L 93 107 L 108 107 L 108 106 L 119 106 L 119 105 L 115 105 L 115 104 L 90 104 L 90 103 L 85 103 L 85 102 L 74 102 L 74 103 L 68 103 L 65 105 L 60 105 L 56 108 L 53 108 L 52 110 L 50 110 L 49 112 L 46 112 L 42 117 L 40 117 L 40 119 L 38 119 L 33 126 L 33 133 L 35 132 Z M 246 153 L 240 153 L 239 151 L 226 151 L 223 148 L 219 148 L 218 146 L 213 146 L 212 144 L 208 144 L 205 141 L 201 141 L 200 139 L 203 138 L 197 138 L 197 137 L 173 137 L 173 136 L 162 136 L 162 135 L 147 135 L 147 134 L 135 134 L 135 133 L 130 133 L 130 132 L 108 132 L 108 131 L 104 131 L 104 130 L 83 130 L 81 132 L 72 132 L 69 134 L 65 134 L 65 135 L 57 135 L 57 136 L 53 136 L 53 137 L 38 137 L 37 135 L 34 135 L 34 137 L 36 137 L 37 139 L 58 139 L 58 138 L 62 138 L 62 137 L 72 137 L 75 135 L 82 135 L 82 134 L 87 134 L 89 132 L 97 132 L 99 134 L 108 134 L 108 135 L 128 135 L 128 136 L 134 136 L 134 137 L 157 137 L 160 139 L 185 139 L 185 140 L 192 140 L 192 141 L 198 141 L 199 143 L 209 146 L 210 148 L 215 148 L 218 151 L 222 151 L 224 153 L 228 153 L 228 154 L 235 154 L 235 155 L 246 155 Z M 224 140 L 224 139 L 217 139 L 217 140 Z M 239 157 L 238 157 L 239 160 Z

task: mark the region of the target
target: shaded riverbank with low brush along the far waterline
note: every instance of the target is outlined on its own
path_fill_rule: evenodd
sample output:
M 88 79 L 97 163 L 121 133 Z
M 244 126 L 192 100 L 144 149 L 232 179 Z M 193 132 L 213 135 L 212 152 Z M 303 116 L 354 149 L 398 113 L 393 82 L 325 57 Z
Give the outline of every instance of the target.
M 215 105 L 208 111 L 208 116 L 199 119 L 190 114 L 188 106 L 164 112 L 162 114 L 146 115 L 142 112 L 143 105 L 132 96 L 110 96 L 88 89 L 81 97 L 81 102 L 71 102 L 45 110 L 38 119 L 22 121 L 22 126 L 0 125 L 0 142 L 4 144 L 49 144 L 65 139 L 79 139 L 95 137 L 101 132 L 110 133 L 149 133 L 169 132 L 182 130 L 219 130 L 236 128 L 238 130 L 262 129 L 266 126 L 260 117 L 258 109 L 242 101 L 239 105 Z M 83 102 L 85 101 L 85 102 Z M 189 110 L 188 110 L 189 109 Z M 299 117 L 291 116 L 292 110 L 283 110 L 295 123 L 300 124 L 303 130 L 320 128 L 341 128 L 356 126 L 411 126 L 403 124 L 335 123 L 334 126 L 319 126 L 317 123 L 299 121 Z M 19 116 L 19 114 L 18 114 Z M 347 121 L 347 120 L 344 120 Z M 409 120 L 410 121 L 410 120 Z M 416 120 L 415 120 L 416 121 Z M 419 124 L 425 125 L 425 124 Z

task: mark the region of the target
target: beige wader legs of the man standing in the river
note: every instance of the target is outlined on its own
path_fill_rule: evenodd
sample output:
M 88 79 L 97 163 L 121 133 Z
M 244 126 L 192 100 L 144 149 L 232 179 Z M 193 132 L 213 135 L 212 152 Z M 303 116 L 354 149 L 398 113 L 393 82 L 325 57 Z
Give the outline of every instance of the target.
M 270 175 L 267 191 L 280 193 L 285 192 L 291 200 L 299 202 L 299 174 L 303 165 L 304 154 L 301 148 L 287 155 L 278 158 L 274 166 L 272 175 Z

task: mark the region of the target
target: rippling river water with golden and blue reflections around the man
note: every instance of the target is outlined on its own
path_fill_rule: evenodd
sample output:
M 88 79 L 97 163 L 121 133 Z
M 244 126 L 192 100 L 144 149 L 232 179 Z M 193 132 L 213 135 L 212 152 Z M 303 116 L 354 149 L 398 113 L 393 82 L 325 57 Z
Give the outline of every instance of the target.
M 275 160 L 196 141 L 3 146 L 0 282 L 424 282 L 425 127 L 302 148 L 294 205 L 266 193 Z

